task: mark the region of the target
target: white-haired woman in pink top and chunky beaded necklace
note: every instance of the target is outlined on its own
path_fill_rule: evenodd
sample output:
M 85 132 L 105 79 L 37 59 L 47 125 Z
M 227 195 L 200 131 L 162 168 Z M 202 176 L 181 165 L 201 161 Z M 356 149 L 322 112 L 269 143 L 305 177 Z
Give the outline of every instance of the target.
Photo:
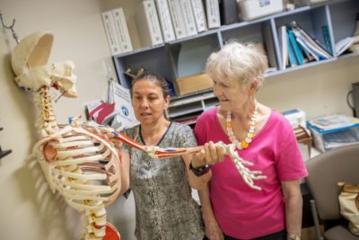
M 194 171 L 210 165 L 204 174 L 212 173 L 199 192 L 209 239 L 300 239 L 300 180 L 308 173 L 288 121 L 256 100 L 266 69 L 267 57 L 250 44 L 228 43 L 207 59 L 219 105 L 197 119 L 195 135 L 198 145 L 206 145 L 206 160 L 191 165 Z M 256 182 L 261 191 L 241 180 L 217 142 L 234 144 L 253 164 L 250 170 L 267 176 Z

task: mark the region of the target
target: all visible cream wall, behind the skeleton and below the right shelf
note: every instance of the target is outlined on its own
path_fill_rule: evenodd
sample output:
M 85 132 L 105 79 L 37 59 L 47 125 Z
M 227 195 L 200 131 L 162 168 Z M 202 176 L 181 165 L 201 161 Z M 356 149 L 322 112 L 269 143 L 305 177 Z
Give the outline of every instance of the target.
M 83 114 L 84 104 L 106 99 L 107 80 L 102 62 L 110 66 L 109 48 L 102 29 L 101 11 L 123 6 L 135 48 L 139 41 L 133 12 L 136 1 L 125 0 L 0 0 L 4 21 L 16 18 L 20 38 L 33 31 L 51 31 L 55 41 L 50 62 L 71 59 L 78 76 L 77 99 L 55 104 L 59 122 Z M 6 240 L 76 239 L 78 216 L 48 191 L 36 162 L 26 160 L 35 142 L 29 95 L 13 84 L 10 53 L 14 41 L 0 29 L 0 145 L 13 153 L 0 160 L 0 233 Z M 346 93 L 359 81 L 359 58 L 346 58 L 320 67 L 293 71 L 267 79 L 258 100 L 279 111 L 300 108 L 309 118 L 346 113 Z M 113 68 L 112 68 L 113 69 Z M 123 239 L 134 239 L 134 201 L 123 197 L 109 208 L 109 220 Z

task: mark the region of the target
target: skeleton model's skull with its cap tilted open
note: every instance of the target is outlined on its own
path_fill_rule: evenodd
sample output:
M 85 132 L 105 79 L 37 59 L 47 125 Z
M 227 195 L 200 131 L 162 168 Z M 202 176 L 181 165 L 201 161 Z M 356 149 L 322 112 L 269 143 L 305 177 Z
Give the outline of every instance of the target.
M 64 96 L 76 97 L 74 63 L 48 64 L 53 40 L 51 33 L 36 31 L 16 46 L 12 56 L 15 82 L 31 91 L 38 91 L 42 86 L 54 86 Z

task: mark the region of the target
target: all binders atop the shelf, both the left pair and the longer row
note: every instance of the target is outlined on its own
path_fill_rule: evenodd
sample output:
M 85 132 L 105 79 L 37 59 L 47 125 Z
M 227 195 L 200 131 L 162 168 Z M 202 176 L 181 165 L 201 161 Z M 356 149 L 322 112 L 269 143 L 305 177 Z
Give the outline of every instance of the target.
M 136 7 L 142 47 L 194 36 L 238 22 L 236 0 L 144 0 Z M 122 8 L 102 13 L 112 55 L 133 50 Z

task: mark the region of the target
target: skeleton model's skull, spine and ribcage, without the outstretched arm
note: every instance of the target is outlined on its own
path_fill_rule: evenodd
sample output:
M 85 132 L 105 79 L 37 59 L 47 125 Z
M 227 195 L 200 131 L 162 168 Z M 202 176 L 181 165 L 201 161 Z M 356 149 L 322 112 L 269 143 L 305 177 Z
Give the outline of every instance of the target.
M 82 214 L 81 238 L 106 239 L 105 233 L 113 228 L 106 222 L 105 207 L 116 200 L 120 190 L 118 153 L 101 138 L 96 125 L 81 124 L 79 120 L 57 124 L 50 88 L 66 97 L 76 97 L 77 92 L 71 61 L 47 64 L 52 42 L 50 33 L 34 32 L 13 50 L 15 82 L 33 92 L 39 108 L 39 141 L 33 155 L 51 191 L 58 191 L 69 206 Z

